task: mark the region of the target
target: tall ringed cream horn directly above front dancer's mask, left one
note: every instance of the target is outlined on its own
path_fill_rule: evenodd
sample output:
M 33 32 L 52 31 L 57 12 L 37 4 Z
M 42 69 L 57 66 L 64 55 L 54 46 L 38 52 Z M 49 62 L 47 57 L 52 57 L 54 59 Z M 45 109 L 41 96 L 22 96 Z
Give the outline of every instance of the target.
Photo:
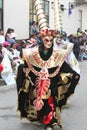
M 34 5 L 35 5 L 39 29 L 40 30 L 48 29 L 49 25 L 46 19 L 46 15 L 44 13 L 44 9 L 42 7 L 41 0 L 34 0 Z

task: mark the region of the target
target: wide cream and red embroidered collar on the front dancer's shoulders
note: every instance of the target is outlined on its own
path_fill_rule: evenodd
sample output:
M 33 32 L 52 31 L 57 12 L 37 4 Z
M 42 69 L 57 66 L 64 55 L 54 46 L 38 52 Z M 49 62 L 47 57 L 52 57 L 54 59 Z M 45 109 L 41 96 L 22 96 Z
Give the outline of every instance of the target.
M 28 50 L 27 50 L 28 51 Z M 33 51 L 32 49 L 32 54 L 28 54 L 25 49 L 24 51 L 24 57 L 25 57 L 25 60 L 30 68 L 30 70 L 36 75 L 36 76 L 39 76 L 39 72 L 36 71 L 33 67 L 34 66 L 37 66 L 39 68 L 50 68 L 50 67 L 57 67 L 56 71 L 54 71 L 53 73 L 49 74 L 48 77 L 52 78 L 54 76 L 56 76 L 60 70 L 60 67 L 62 65 L 62 63 L 64 62 L 65 58 L 66 58 L 66 52 L 67 51 L 59 51 L 58 50 L 54 50 L 53 51 L 53 54 L 52 56 L 49 58 L 49 60 L 47 61 L 44 61 L 41 59 L 37 49 L 36 49 L 36 52 Z M 37 55 L 36 55 L 37 54 Z M 54 60 L 53 60 L 54 59 Z

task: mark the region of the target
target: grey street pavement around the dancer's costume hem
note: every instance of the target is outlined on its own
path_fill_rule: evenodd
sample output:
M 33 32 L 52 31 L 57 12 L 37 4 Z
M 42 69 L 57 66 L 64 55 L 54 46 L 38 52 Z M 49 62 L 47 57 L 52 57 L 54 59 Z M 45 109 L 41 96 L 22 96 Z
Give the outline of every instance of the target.
M 80 62 L 81 79 L 68 108 L 62 111 L 63 130 L 87 130 L 87 61 Z M 16 86 L 0 87 L 0 130 L 44 130 L 44 126 L 20 120 L 16 111 Z M 59 130 L 55 126 L 55 130 Z

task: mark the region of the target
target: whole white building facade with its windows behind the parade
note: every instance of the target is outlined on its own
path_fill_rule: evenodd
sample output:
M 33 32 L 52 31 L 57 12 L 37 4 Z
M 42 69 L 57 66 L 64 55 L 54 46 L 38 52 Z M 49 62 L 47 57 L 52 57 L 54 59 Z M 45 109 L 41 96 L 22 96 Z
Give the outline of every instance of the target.
M 63 30 L 74 34 L 87 29 L 87 0 L 59 0 Z M 50 28 L 54 28 L 54 0 L 42 0 Z M 36 21 L 33 0 L 0 0 L 0 28 L 14 28 L 17 39 L 27 39 L 32 21 Z

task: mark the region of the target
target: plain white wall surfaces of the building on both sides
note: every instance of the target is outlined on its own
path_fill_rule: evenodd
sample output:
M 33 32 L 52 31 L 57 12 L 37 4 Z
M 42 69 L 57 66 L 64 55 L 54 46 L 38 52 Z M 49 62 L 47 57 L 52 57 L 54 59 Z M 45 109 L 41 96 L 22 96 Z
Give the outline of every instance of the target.
M 49 26 L 54 28 L 54 9 L 51 2 L 49 8 Z M 87 29 L 87 4 L 76 7 L 72 14 L 68 14 L 68 3 L 76 0 L 59 0 L 64 4 L 65 10 L 62 11 L 63 30 L 67 34 L 76 33 L 79 27 L 79 9 L 82 10 L 82 30 Z M 78 0 L 79 1 L 79 0 Z M 4 0 L 4 32 L 9 27 L 15 29 L 17 39 L 26 39 L 29 37 L 29 0 Z

